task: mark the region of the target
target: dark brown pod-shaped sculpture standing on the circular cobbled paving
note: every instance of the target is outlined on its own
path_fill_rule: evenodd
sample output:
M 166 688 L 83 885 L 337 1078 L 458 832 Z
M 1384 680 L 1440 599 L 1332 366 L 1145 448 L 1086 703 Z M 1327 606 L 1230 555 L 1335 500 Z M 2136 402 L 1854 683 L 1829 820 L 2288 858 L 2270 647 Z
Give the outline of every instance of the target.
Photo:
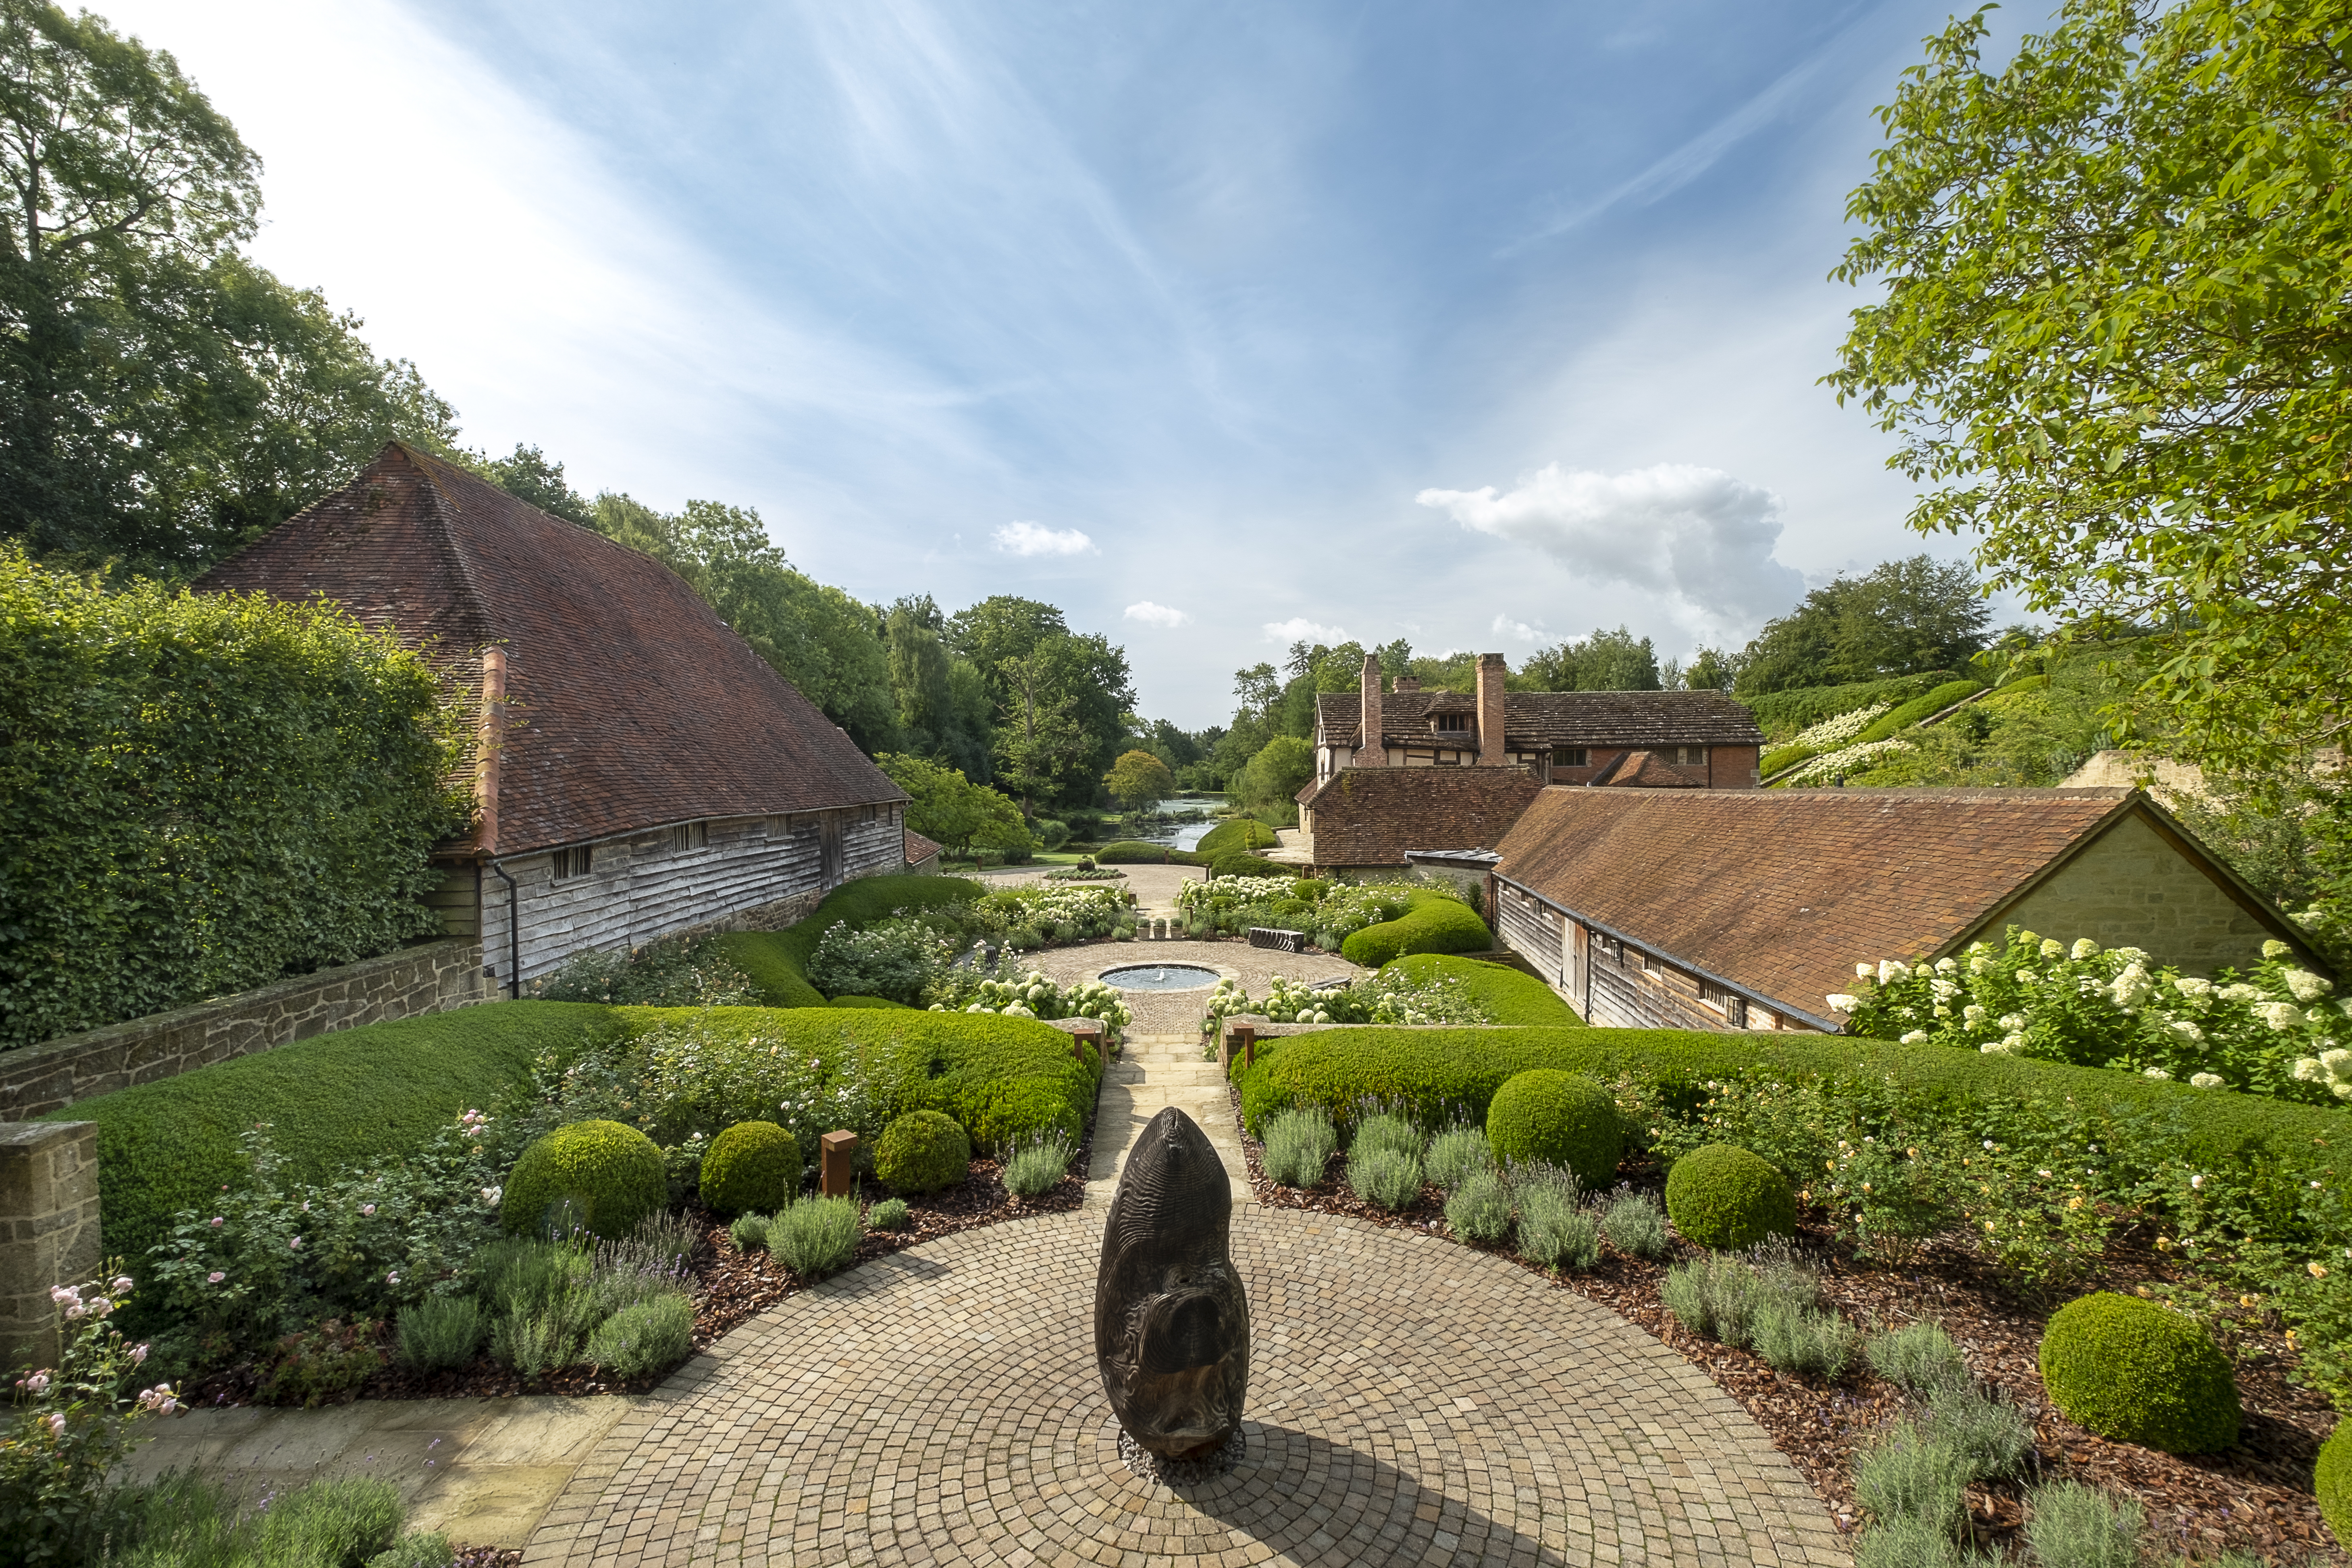
M 1216 1453 L 1249 1394 L 1249 1298 L 1232 1269 L 1232 1187 L 1174 1105 L 1145 1124 L 1103 1220 L 1094 1359 L 1120 1425 L 1167 1460 Z

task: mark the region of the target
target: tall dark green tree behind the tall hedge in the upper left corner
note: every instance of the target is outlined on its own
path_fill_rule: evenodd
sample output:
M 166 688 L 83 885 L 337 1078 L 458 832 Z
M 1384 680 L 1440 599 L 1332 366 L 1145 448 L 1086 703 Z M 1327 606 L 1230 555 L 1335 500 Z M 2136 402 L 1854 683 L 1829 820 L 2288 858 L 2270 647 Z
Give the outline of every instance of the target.
M 0 0 L 0 517 L 193 576 L 449 407 L 242 252 L 259 160 L 169 54 Z

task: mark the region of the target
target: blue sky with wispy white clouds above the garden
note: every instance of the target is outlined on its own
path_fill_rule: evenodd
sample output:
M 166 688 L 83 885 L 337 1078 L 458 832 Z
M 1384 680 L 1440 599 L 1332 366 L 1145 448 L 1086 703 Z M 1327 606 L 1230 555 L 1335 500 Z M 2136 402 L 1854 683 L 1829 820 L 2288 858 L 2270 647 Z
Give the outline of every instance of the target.
M 1185 729 L 1294 639 L 1686 658 L 1966 555 L 1818 386 L 1945 2 L 94 9 L 466 444 L 868 602 L 1049 599 Z

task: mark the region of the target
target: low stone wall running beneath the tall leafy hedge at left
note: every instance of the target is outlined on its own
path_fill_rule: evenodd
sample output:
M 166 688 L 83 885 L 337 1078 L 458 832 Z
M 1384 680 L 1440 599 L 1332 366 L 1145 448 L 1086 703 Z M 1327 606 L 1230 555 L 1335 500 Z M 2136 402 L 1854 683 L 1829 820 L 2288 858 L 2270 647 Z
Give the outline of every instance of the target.
M 233 1056 L 362 1023 L 492 1001 L 482 947 L 459 938 L 402 947 L 221 997 L 176 1013 L 0 1051 L 0 1121 L 28 1121 L 92 1095 L 179 1077 Z

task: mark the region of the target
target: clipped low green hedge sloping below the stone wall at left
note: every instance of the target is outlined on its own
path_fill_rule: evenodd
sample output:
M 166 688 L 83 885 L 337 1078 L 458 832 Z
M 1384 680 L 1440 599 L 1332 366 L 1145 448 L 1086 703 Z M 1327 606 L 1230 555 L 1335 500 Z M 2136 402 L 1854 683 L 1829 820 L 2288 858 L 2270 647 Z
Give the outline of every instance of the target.
M 532 1058 L 614 1030 L 588 1001 L 492 1001 L 454 1013 L 315 1034 L 259 1056 L 120 1088 L 49 1112 L 99 1124 L 99 1213 L 108 1255 L 134 1267 L 172 1213 L 242 1175 L 238 1135 L 270 1124 L 299 1180 L 402 1159 L 463 1110 L 522 1093 Z

